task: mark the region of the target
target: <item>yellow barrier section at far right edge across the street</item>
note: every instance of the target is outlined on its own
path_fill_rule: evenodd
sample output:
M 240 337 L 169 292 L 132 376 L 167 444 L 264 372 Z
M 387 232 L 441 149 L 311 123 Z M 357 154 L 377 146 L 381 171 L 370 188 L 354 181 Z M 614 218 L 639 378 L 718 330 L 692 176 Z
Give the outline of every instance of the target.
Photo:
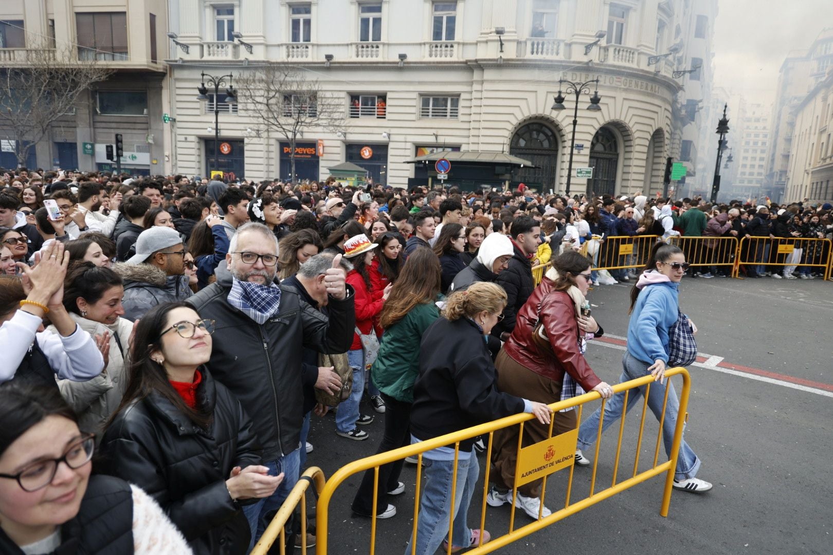
M 741 265 L 749 274 L 750 268 L 761 266 L 796 266 L 819 268 L 824 272 L 825 280 L 831 278 L 831 244 L 830 239 L 744 237 L 738 246 L 734 277 L 738 277 Z M 764 270 L 761 270 L 764 271 Z M 752 270 L 756 273 L 756 270 Z

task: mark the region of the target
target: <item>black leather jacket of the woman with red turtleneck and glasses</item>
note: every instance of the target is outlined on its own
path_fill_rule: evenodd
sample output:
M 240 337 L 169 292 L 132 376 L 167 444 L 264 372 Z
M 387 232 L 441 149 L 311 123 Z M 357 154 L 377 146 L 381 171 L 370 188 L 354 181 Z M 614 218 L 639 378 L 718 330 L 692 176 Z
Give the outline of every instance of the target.
M 194 553 L 246 553 L 248 521 L 226 480 L 236 466 L 260 464 L 261 450 L 240 402 L 200 370 L 197 406 L 214 415 L 208 429 L 154 392 L 116 415 L 104 433 L 97 470 L 139 484 Z

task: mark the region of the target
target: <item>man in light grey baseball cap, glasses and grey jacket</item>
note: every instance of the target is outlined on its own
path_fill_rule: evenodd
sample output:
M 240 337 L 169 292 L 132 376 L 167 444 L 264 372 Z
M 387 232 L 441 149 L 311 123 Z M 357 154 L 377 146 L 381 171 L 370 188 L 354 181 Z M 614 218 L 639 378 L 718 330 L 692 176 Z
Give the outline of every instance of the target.
M 122 307 L 127 320 L 138 320 L 156 305 L 192 295 L 185 275 L 185 247 L 177 230 L 153 226 L 136 240 L 136 255 L 112 270 L 124 280 Z

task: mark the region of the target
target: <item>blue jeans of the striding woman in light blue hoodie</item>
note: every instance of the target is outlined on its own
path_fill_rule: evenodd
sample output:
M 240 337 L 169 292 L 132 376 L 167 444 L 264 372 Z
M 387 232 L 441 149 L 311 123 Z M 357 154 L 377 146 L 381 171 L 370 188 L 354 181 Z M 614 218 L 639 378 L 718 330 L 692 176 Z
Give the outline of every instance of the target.
M 642 362 L 640 359 L 636 359 L 636 357 L 626 352 L 624 356 L 622 356 L 622 367 L 624 370 L 619 377 L 620 383 L 630 381 L 631 379 L 641 378 L 642 376 L 650 374 L 650 372 L 647 371 L 648 366 L 650 365 L 651 364 Z M 662 424 L 662 441 L 663 444 L 665 444 L 666 455 L 670 458 L 671 445 L 674 443 L 674 429 L 676 428 L 677 410 L 680 406 L 674 391 L 674 385 L 671 384 L 670 379 L 667 379 L 665 384 L 660 384 L 660 382 L 651 382 L 651 392 L 648 394 L 648 407 L 651 409 L 651 412 L 654 413 L 654 416 L 656 416 L 657 421 L 659 421 L 662 416 L 662 401 L 665 399 L 666 388 L 669 389 L 669 392 L 668 404 L 666 404 L 666 418 Z M 628 394 L 627 399 L 627 407 L 625 409 L 626 413 L 630 411 L 636 404 L 636 401 L 641 399 L 641 396 L 645 394 L 645 387 L 643 386 L 638 389 L 631 389 L 630 391 L 631 392 Z M 608 399 L 605 404 L 605 420 L 604 424 L 601 426 L 602 432 L 604 432 L 608 426 L 616 422 L 617 419 L 621 418 L 622 404 L 624 402 L 624 393 L 617 393 L 611 397 L 611 399 Z M 598 434 L 599 431 L 600 414 L 601 407 L 596 409 L 596 412 L 591 414 L 590 418 L 581 423 L 581 427 L 578 430 L 577 445 L 577 447 L 581 450 L 590 448 L 593 442 L 596 441 L 596 434 Z M 699 469 L 700 459 L 697 458 L 697 455 L 691 450 L 691 447 L 686 444 L 686 440 L 683 439 L 680 444 L 680 455 L 677 457 L 674 478 L 678 480 L 694 478 L 697 470 Z

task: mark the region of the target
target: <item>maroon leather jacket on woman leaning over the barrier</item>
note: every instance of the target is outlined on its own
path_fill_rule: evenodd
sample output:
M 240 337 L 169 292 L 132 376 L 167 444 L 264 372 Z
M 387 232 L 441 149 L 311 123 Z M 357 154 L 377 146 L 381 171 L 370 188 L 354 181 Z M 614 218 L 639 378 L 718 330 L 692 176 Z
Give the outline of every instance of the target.
M 570 295 L 564 291 L 552 290 L 552 285 L 552 280 L 545 277 L 541 285 L 532 291 L 526 304 L 518 311 L 515 330 L 512 330 L 511 336 L 503 344 L 503 349 L 512 360 L 536 374 L 560 383 L 564 379 L 564 372 L 567 372 L 585 391 L 590 391 L 601 383 L 601 379 L 579 350 L 575 305 Z M 548 353 L 542 352 L 532 341 L 539 303 L 546 336 L 552 347 L 552 352 Z

